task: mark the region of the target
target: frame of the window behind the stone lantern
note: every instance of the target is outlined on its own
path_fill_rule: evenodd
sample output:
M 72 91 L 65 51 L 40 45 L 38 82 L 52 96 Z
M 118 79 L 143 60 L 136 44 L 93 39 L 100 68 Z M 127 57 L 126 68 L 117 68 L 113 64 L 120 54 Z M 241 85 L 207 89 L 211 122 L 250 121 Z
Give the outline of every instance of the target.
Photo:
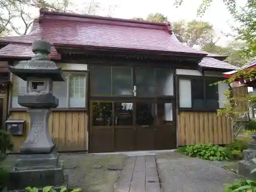
M 72 65 L 72 64 L 71 64 Z M 88 86 L 89 86 L 89 71 L 73 71 L 73 70 L 62 70 L 62 72 L 64 73 L 68 73 L 68 78 L 67 78 L 67 105 L 68 107 L 63 107 L 63 108 L 53 108 L 51 109 L 52 111 L 88 111 Z M 85 83 L 85 106 L 82 108 L 73 108 L 70 107 L 70 74 L 82 74 L 85 76 L 86 78 L 86 83 Z M 13 84 L 14 82 L 14 77 L 16 77 L 15 75 L 13 75 L 11 73 L 11 86 L 10 86 L 10 111 L 26 111 L 27 108 L 25 107 L 13 107 L 12 106 L 12 99 L 13 99 L 13 86 L 16 86 L 15 84 Z

